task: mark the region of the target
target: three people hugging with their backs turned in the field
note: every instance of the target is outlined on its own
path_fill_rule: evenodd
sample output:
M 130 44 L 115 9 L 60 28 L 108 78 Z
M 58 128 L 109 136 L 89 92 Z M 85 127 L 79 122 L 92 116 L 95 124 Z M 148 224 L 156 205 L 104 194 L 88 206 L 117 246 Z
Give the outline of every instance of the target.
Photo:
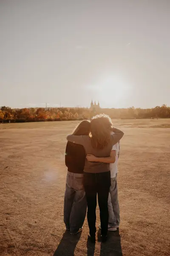
M 96 205 L 100 211 L 102 242 L 108 231 L 120 224 L 117 163 L 124 133 L 113 127 L 105 114 L 79 123 L 67 136 L 65 164 L 68 167 L 64 198 L 64 222 L 72 235 L 82 231 L 86 211 L 88 239 L 96 241 Z

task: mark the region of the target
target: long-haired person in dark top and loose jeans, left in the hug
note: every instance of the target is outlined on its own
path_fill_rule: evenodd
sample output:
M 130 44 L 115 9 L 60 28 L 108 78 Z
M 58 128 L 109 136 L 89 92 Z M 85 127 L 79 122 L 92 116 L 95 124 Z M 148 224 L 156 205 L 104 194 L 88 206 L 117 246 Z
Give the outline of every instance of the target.
M 90 122 L 84 120 L 74 130 L 74 135 L 89 135 Z M 64 222 L 72 235 L 82 231 L 87 211 L 87 201 L 83 188 L 83 170 L 86 152 L 82 145 L 67 143 L 65 165 L 68 167 L 64 198 Z

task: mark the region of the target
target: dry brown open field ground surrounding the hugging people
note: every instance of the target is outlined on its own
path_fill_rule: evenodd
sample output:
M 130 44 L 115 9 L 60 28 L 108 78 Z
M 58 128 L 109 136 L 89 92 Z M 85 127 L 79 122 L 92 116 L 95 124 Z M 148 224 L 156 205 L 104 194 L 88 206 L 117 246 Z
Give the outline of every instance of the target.
M 170 119 L 113 123 L 125 132 L 118 173 L 121 225 L 107 243 L 95 246 L 87 242 L 87 220 L 76 236 L 63 223 L 65 136 L 77 122 L 0 125 L 1 256 L 169 255 Z

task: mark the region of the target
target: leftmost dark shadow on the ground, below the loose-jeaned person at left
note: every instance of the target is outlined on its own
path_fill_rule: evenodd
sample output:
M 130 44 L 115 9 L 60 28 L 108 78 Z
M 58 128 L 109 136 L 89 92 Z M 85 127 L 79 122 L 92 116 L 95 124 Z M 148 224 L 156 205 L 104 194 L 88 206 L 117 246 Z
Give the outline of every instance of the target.
M 80 239 L 81 233 L 82 232 L 71 236 L 70 232 L 66 230 L 53 256 L 74 256 L 74 250 Z

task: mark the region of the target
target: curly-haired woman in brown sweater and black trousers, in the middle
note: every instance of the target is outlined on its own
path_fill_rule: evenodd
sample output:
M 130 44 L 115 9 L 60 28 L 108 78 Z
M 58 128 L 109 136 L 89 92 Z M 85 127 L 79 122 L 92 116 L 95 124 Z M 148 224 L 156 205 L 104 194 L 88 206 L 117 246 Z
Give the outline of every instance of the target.
M 114 132 L 111 135 L 111 132 Z M 86 154 L 92 154 L 101 158 L 101 162 L 89 162 L 85 160 L 83 184 L 88 204 L 88 226 L 91 241 L 95 242 L 96 234 L 96 203 L 100 210 L 102 241 L 107 240 L 108 232 L 108 194 L 111 186 L 111 172 L 109 164 L 105 163 L 105 157 L 109 157 L 111 149 L 122 137 L 124 133 L 113 128 L 111 118 L 105 114 L 94 116 L 91 119 L 90 136 L 76 136 L 70 134 L 67 140 L 83 145 Z M 102 163 L 103 161 L 103 163 Z

